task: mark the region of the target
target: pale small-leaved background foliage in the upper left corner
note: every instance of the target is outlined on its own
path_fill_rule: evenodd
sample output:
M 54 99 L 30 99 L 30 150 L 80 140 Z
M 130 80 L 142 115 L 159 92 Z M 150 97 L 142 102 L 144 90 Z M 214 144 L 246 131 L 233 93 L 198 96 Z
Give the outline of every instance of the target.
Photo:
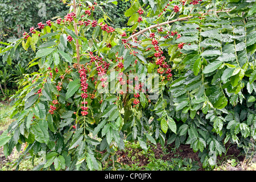
M 63 16 L 68 10 L 57 0 L 1 0 L 0 8 L 0 41 L 3 42 L 9 38 L 20 38 L 24 30 L 35 27 L 39 22 L 53 16 Z

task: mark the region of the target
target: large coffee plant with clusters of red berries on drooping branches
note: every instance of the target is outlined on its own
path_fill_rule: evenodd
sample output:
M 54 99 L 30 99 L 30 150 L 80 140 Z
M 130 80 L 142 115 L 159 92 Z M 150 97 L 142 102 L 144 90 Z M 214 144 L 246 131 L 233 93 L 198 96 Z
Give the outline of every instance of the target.
M 63 2 L 67 15 L 6 45 L 31 48 L 40 68 L 0 137 L 6 156 L 26 143 L 17 169 L 30 154 L 44 159 L 36 170 L 101 170 L 123 140 L 190 144 L 208 167 L 225 144 L 254 142 L 254 1 L 131 0 L 123 28 L 92 16 L 116 1 Z

